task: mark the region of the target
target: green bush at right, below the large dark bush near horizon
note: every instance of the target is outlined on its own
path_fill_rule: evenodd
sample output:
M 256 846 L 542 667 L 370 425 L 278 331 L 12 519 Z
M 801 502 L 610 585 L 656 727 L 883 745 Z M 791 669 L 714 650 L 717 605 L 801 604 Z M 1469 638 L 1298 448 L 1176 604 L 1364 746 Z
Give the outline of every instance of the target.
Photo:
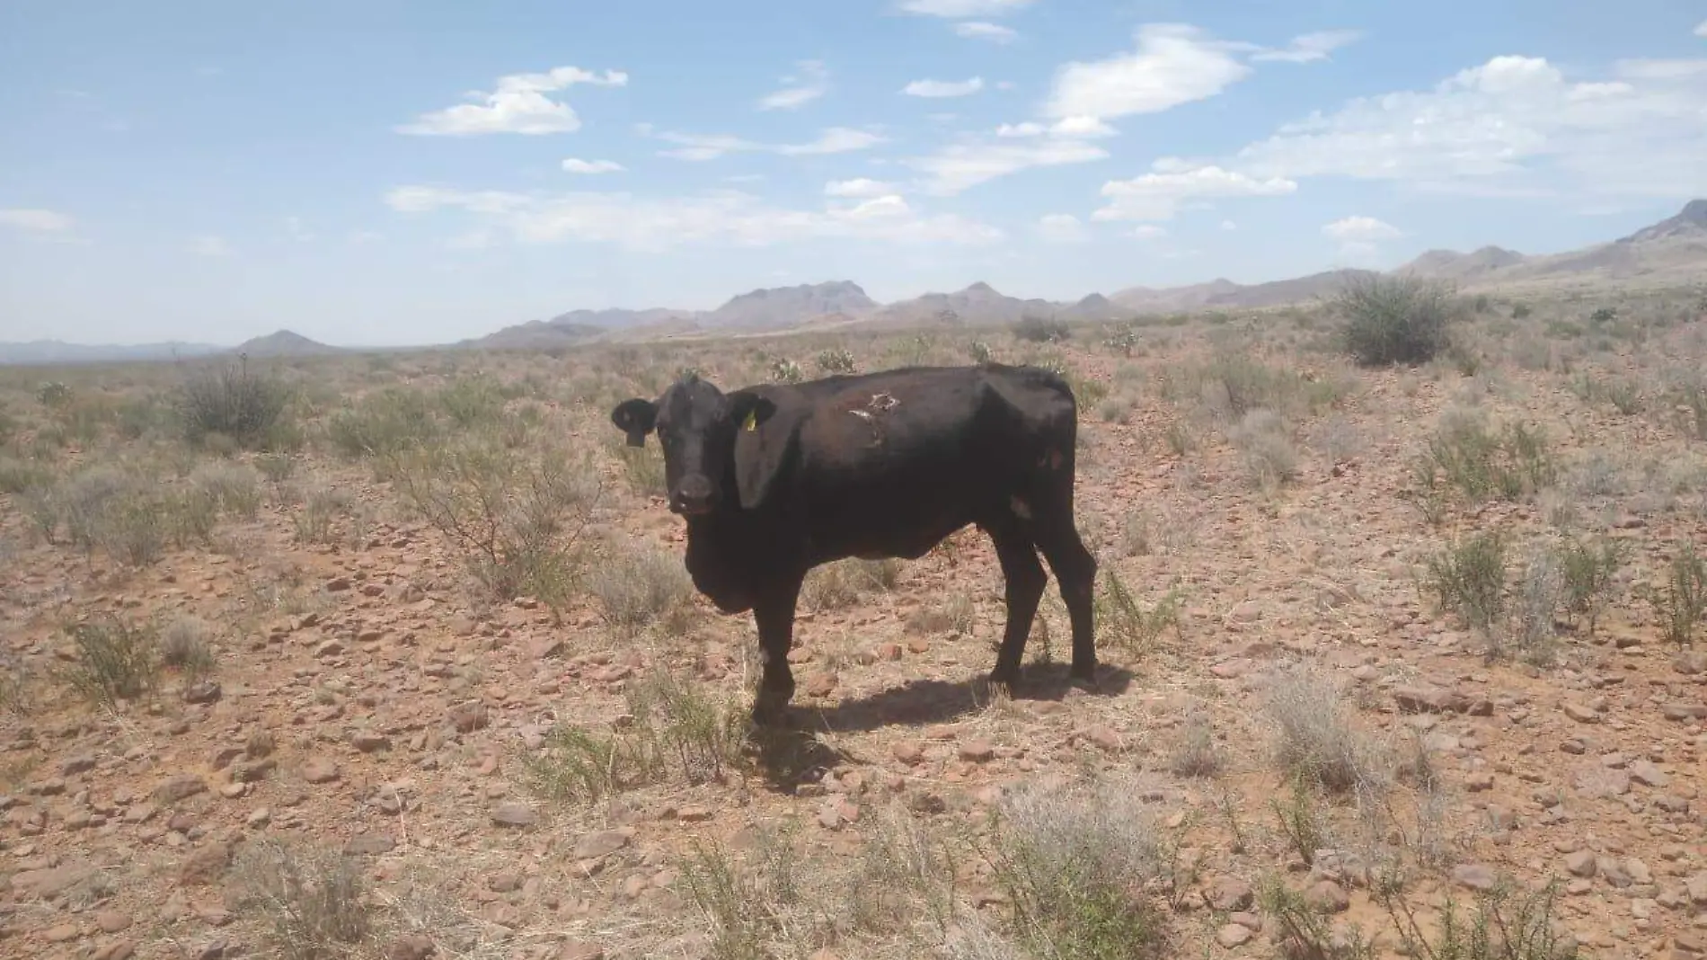
M 1480 417 L 1456 415 L 1442 417 L 1413 475 L 1424 497 L 1456 494 L 1477 504 L 1535 495 L 1558 478 L 1558 465 L 1540 429 L 1506 424 L 1494 432 Z

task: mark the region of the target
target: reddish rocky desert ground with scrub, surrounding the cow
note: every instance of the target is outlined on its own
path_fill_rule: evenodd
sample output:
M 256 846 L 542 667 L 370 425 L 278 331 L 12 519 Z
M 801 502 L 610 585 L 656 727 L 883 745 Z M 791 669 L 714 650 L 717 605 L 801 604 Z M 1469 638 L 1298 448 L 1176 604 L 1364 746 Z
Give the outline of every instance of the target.
M 1707 955 L 1707 297 L 1419 309 L 0 369 L 0 953 Z M 1099 687 L 1053 579 L 982 683 L 966 530 L 751 729 L 611 407 L 982 359 L 1079 396 Z

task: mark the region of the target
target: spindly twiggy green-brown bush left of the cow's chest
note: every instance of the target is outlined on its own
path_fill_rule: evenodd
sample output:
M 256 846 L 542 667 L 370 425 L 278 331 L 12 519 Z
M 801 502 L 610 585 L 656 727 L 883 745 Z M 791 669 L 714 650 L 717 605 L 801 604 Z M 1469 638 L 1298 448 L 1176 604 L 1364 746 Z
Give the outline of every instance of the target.
M 584 456 L 548 448 L 527 458 L 476 436 L 396 454 L 387 471 L 405 504 L 451 540 L 490 596 L 533 596 L 562 610 L 601 492 Z

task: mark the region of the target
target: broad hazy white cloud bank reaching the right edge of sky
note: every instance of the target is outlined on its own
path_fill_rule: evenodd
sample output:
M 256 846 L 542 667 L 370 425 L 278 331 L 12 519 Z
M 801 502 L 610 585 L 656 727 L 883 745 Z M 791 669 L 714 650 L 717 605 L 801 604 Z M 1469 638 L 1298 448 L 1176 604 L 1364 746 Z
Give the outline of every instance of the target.
M 1495 56 L 1429 91 L 1313 113 L 1226 162 L 1477 195 L 1700 196 L 1704 104 L 1707 60 L 1625 60 L 1572 82 L 1543 58 Z

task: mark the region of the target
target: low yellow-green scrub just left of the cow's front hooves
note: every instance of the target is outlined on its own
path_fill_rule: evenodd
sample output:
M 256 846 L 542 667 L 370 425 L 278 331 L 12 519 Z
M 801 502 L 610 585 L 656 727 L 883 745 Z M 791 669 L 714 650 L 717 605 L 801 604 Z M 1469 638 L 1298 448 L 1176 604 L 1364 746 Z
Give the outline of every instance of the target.
M 732 697 L 654 668 L 623 688 L 609 729 L 560 723 L 521 762 L 521 782 L 551 803 L 592 803 L 671 779 L 720 782 L 746 772 L 746 714 Z

